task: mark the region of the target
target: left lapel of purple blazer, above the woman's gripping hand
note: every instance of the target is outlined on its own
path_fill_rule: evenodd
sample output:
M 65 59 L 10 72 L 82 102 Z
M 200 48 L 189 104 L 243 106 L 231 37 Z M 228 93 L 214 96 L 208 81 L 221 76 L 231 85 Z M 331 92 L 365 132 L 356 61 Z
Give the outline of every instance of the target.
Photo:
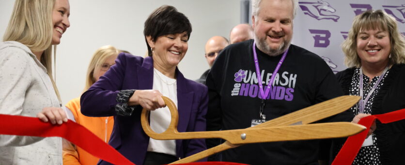
M 142 66 L 137 66 L 139 89 L 152 89 L 153 87 L 153 59 L 146 57 Z

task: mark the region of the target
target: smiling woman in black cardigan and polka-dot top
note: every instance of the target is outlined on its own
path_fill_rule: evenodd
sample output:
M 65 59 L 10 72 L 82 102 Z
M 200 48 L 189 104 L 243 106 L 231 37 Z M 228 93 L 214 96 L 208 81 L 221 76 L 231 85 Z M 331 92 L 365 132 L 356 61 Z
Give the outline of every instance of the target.
M 405 41 L 387 13 L 366 11 L 355 17 L 342 45 L 346 70 L 337 73 L 345 95 L 362 96 L 351 108 L 356 117 L 405 108 Z M 405 157 L 405 121 L 376 122 L 354 165 L 399 165 Z M 336 155 L 342 144 L 334 145 Z

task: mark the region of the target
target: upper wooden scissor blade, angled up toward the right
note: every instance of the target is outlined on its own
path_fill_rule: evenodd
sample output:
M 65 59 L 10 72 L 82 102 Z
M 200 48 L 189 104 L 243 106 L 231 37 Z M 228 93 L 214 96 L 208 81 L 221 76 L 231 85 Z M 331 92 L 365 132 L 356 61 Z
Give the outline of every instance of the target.
M 358 96 L 341 96 L 334 99 L 309 106 L 307 108 L 292 112 L 287 115 L 277 117 L 266 121 L 262 124 L 250 128 L 262 128 L 273 126 L 288 126 L 295 123 L 308 124 L 327 118 L 332 115 L 339 114 L 353 105 L 355 105 L 360 97 Z M 248 128 L 249 129 L 249 128 Z

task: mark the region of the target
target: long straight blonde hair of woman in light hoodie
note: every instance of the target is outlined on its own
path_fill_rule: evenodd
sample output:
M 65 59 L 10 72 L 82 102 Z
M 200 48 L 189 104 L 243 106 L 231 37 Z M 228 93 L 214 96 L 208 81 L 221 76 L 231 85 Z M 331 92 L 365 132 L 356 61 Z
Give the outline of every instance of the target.
M 38 59 L 47 69 L 55 93 L 61 101 L 52 76 L 52 10 L 55 0 L 16 0 L 3 41 L 17 41 L 31 51 L 43 51 Z

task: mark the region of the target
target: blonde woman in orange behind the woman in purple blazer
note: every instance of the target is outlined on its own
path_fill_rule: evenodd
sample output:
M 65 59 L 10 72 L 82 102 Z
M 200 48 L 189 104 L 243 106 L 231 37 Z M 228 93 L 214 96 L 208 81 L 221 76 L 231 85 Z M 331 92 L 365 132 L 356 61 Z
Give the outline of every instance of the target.
M 115 64 L 115 59 L 122 52 L 112 46 L 104 46 L 97 49 L 86 74 L 86 87 L 84 91 L 90 88 L 94 82 L 106 73 L 110 66 Z M 80 112 L 80 97 L 70 100 L 66 105 L 66 110 L 71 111 L 75 121 L 89 129 L 104 142 L 109 141 L 114 125 L 113 116 L 109 117 L 88 117 Z M 98 158 L 86 152 L 82 148 L 74 146 L 70 143 L 63 144 L 63 165 L 95 165 Z

